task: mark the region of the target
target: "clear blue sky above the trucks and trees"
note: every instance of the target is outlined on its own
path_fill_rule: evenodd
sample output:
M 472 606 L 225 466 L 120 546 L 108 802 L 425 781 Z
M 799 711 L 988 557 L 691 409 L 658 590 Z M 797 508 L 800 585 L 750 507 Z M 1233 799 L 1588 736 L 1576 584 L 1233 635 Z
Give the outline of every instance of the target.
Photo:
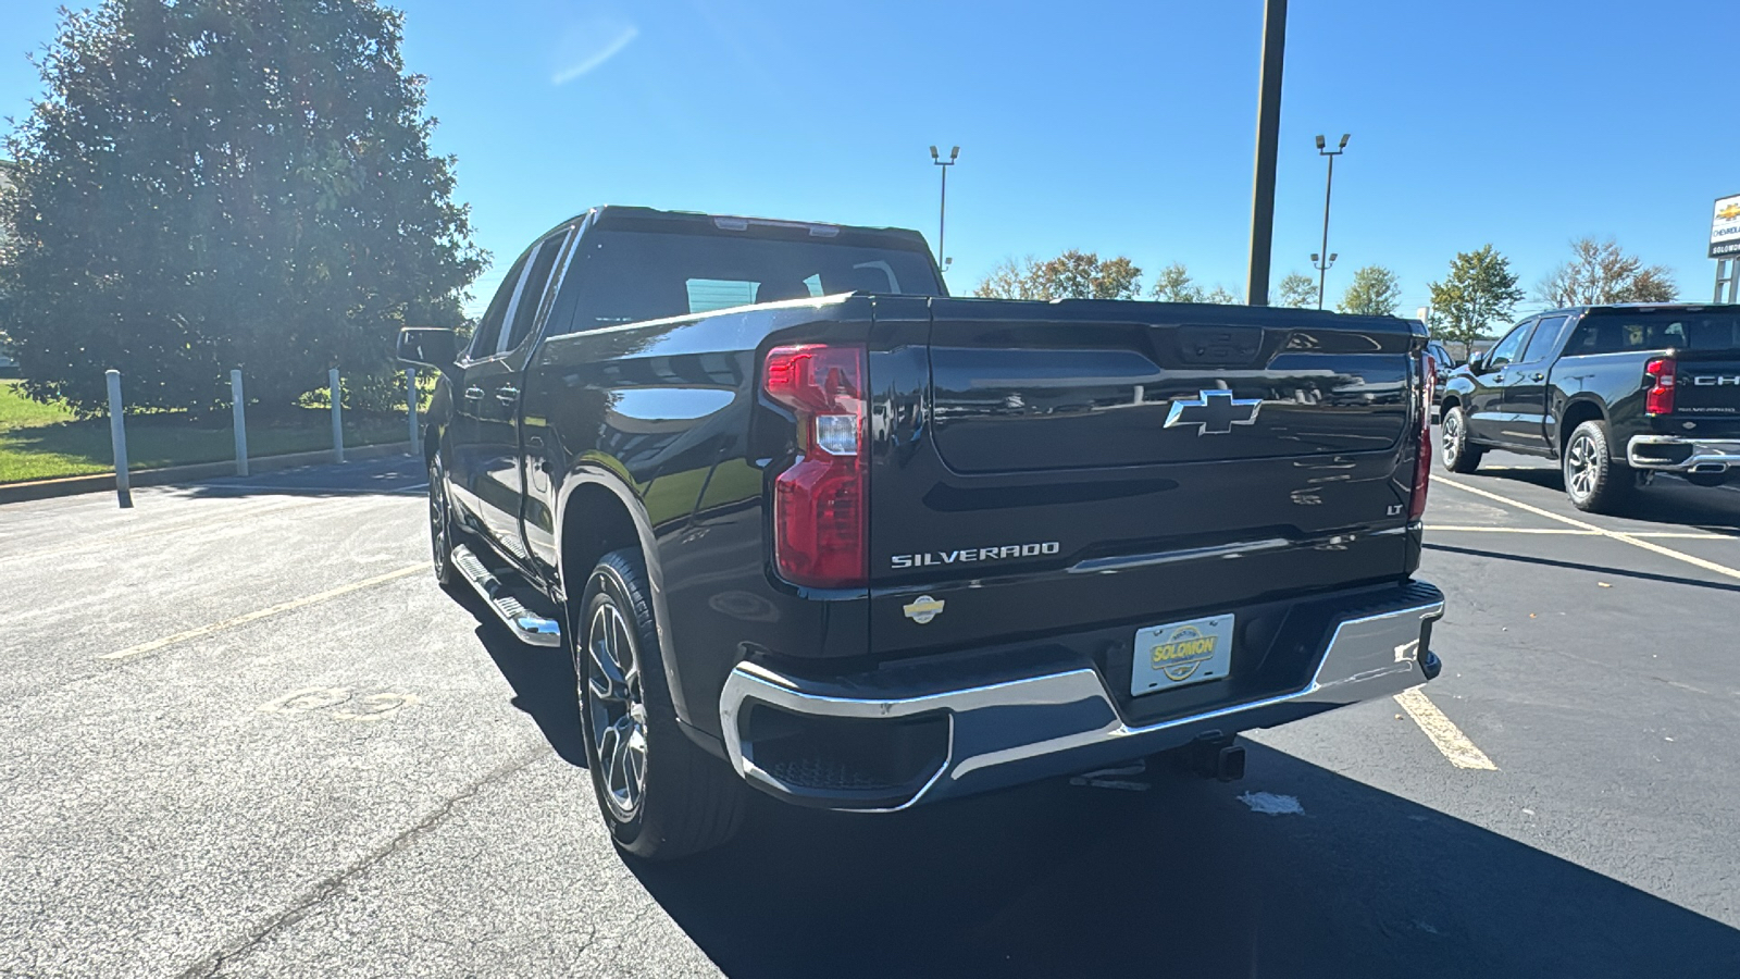
M 57 0 L 7 0 L 0 115 L 40 91 L 24 52 Z M 1065 247 L 1183 261 L 1242 293 L 1260 0 L 404 0 L 435 145 L 459 159 L 494 280 L 592 204 L 900 225 L 950 286 Z M 1310 272 L 1336 164 L 1329 294 L 1382 263 L 1404 310 L 1493 242 L 1524 287 L 1575 235 L 1613 235 L 1702 300 L 1710 202 L 1740 192 L 1733 0 L 1293 0 L 1275 280 Z

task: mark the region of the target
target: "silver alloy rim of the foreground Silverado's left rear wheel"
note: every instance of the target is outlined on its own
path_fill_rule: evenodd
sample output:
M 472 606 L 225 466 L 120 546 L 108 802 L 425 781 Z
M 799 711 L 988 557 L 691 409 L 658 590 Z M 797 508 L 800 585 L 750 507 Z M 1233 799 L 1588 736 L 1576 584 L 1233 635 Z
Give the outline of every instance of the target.
M 606 801 L 626 822 L 646 794 L 647 711 L 628 620 L 614 601 L 600 603 L 586 624 L 585 683 Z

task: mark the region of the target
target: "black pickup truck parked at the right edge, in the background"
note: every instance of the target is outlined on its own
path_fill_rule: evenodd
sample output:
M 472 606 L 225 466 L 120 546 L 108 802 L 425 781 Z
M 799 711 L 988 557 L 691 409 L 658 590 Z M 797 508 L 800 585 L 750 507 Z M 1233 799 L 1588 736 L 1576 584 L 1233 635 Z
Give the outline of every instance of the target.
M 1613 305 L 1529 317 L 1444 385 L 1444 465 L 1486 449 L 1559 460 L 1582 510 L 1620 512 L 1656 474 L 1740 472 L 1740 307 Z

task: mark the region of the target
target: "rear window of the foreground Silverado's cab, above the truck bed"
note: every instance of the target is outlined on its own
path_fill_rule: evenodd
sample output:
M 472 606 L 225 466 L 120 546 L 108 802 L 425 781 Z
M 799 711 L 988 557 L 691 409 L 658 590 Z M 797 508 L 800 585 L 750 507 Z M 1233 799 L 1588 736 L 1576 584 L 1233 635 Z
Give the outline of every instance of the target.
M 825 239 L 593 232 L 581 249 L 576 331 L 853 291 L 941 294 L 924 253 Z

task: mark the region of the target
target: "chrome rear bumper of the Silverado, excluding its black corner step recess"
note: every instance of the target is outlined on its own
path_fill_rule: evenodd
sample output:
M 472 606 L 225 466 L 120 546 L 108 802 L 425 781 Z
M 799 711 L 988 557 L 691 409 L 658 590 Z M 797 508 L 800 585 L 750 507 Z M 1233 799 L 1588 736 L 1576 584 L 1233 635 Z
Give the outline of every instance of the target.
M 1124 723 L 1100 672 L 1086 662 L 974 686 L 900 690 L 877 674 L 809 681 L 746 660 L 733 669 L 720 695 L 726 749 L 736 772 L 764 791 L 865 812 L 1084 772 L 1180 747 L 1209 732 L 1274 726 L 1425 683 L 1439 671 L 1437 657 L 1423 646 L 1430 622 L 1444 615 L 1444 599 L 1430 585 L 1411 587 L 1415 601 L 1406 606 L 1340 620 L 1303 688 L 1138 726 Z M 936 749 L 910 779 L 865 791 L 854 791 L 849 779 L 844 789 L 816 789 L 757 763 L 750 714 L 759 704 L 797 718 L 847 719 L 860 730 L 929 723 Z

